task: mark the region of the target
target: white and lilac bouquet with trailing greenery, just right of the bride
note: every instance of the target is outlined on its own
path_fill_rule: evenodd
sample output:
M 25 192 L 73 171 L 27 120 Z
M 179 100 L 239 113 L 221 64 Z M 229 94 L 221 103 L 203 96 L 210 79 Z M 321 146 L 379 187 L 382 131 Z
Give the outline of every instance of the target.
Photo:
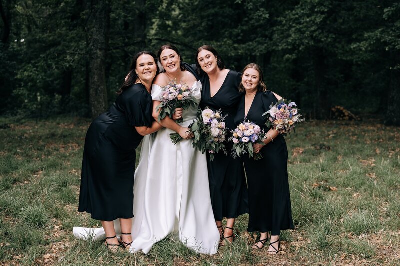
M 190 131 L 193 132 L 193 147 L 201 151 L 203 154 L 208 151 L 210 160 L 214 159 L 214 154 L 220 150 L 225 152 L 226 126 L 220 110 L 214 112 L 206 107 L 202 112 L 198 110 L 197 120 L 189 126 Z M 170 138 L 174 144 L 182 140 L 178 133 L 170 134 Z

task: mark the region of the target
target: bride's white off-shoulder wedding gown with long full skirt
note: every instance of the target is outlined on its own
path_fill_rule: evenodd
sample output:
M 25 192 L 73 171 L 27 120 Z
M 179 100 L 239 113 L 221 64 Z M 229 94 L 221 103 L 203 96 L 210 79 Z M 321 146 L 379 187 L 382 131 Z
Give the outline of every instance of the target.
M 197 102 L 201 82 L 192 86 Z M 152 86 L 153 100 L 160 100 L 161 87 Z M 183 127 L 197 117 L 197 107 L 183 111 Z M 209 193 L 206 155 L 192 147 L 192 140 L 174 145 L 163 128 L 143 138 L 139 165 L 135 171 L 131 252 L 147 254 L 154 243 L 167 236 L 177 237 L 197 253 L 215 254 L 219 231 Z M 114 222 L 120 231 L 119 222 Z M 102 228 L 101 228 L 102 229 Z M 103 230 L 74 227 L 78 238 L 103 239 Z

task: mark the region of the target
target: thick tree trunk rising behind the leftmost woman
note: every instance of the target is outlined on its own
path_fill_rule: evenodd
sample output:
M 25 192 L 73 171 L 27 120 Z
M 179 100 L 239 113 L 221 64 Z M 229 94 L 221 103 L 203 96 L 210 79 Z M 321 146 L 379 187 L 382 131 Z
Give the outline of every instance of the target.
M 109 8 L 106 0 L 91 1 L 89 21 L 89 105 L 92 118 L 107 108 L 105 81 L 105 56 L 109 23 Z

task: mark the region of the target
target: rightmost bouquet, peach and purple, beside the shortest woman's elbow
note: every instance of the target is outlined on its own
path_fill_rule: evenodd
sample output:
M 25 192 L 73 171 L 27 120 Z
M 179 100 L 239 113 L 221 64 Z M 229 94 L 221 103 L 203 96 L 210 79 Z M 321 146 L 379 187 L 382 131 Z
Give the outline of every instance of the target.
M 267 116 L 266 126 L 272 127 L 280 134 L 290 134 L 294 130 L 294 124 L 301 123 L 305 119 L 300 119 L 301 114 L 298 113 L 297 105 L 291 100 L 280 99 L 277 103 L 269 106 L 269 111 L 262 114 Z

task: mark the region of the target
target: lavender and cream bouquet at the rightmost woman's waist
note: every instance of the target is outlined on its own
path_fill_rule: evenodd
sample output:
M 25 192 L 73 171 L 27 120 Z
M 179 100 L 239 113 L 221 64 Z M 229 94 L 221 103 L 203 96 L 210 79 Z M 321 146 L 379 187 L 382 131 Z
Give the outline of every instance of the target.
M 253 149 L 254 143 L 264 145 L 262 140 L 265 137 L 265 132 L 258 125 L 250 121 L 243 121 L 231 132 L 233 135 L 229 138 L 229 141 L 233 141 L 232 156 L 234 158 L 245 153 L 248 153 L 248 156 L 255 160 L 262 158 L 261 153 L 255 153 Z

